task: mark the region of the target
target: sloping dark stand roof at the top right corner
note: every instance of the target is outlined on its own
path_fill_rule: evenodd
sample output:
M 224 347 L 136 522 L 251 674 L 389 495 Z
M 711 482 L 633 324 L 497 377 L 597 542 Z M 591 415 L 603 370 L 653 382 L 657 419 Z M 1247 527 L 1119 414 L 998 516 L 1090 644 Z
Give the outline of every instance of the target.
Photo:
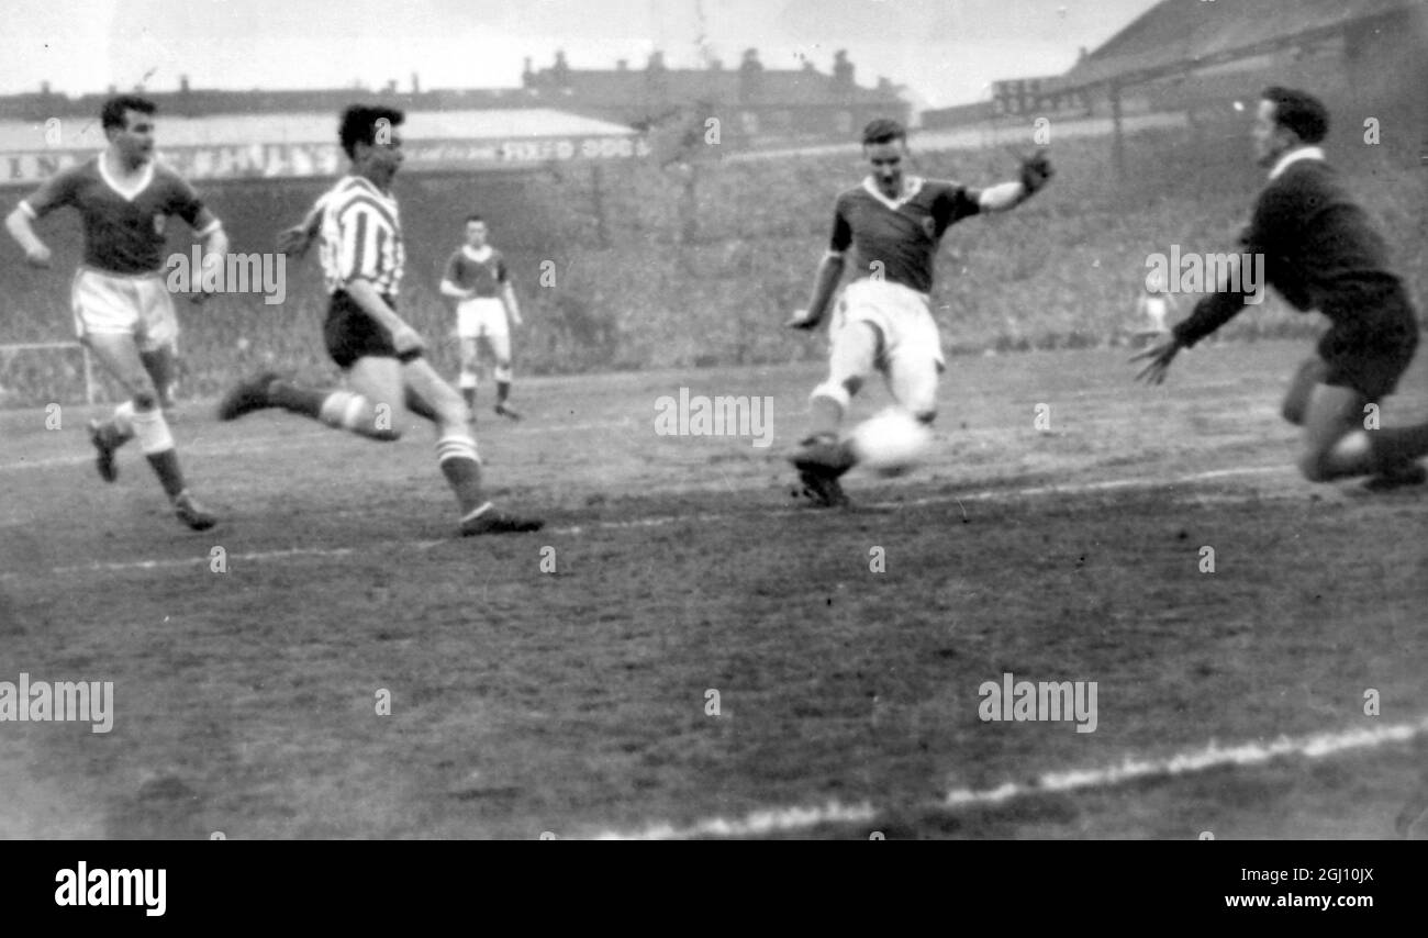
M 1422 0 L 1162 0 L 1051 84 L 1132 84 L 1338 34 Z

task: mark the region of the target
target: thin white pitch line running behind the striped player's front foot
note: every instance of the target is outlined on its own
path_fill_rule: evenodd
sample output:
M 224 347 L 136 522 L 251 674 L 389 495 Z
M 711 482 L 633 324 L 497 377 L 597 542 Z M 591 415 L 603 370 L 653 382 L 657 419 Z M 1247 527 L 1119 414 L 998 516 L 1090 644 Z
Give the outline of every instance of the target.
M 912 498 L 908 501 L 890 501 L 890 503 L 873 503 L 870 508 L 878 510 L 897 510 L 897 508 L 924 508 L 931 505 L 951 505 L 960 504 L 962 501 L 992 501 L 1000 498 L 1038 498 L 1042 495 L 1074 495 L 1078 493 L 1088 491 L 1105 491 L 1115 488 L 1155 488 L 1155 487 L 1172 487 L 1185 485 L 1214 478 L 1227 478 L 1232 475 L 1262 475 L 1265 473 L 1282 473 L 1288 471 L 1278 465 L 1255 465 L 1238 470 L 1212 470 L 1207 473 L 1198 473 L 1195 475 L 1182 475 L 1175 480 L 1162 478 L 1122 478 L 1122 480 L 1105 480 L 1098 483 L 1078 483 L 1078 484 L 1061 484 L 1061 485 L 1034 485 L 1028 488 L 984 488 L 974 493 L 962 493 L 958 495 L 934 495 L 928 498 Z M 1242 501 L 1242 500 L 1237 500 Z M 761 517 L 798 517 L 808 515 L 808 508 L 774 508 L 771 511 L 760 513 Z M 628 518 L 625 521 L 595 521 L 588 525 L 567 525 L 558 528 L 547 528 L 544 534 L 557 535 L 581 535 L 590 530 L 598 531 L 623 531 L 630 528 L 658 528 L 670 524 L 707 524 L 711 521 L 728 521 L 737 517 L 745 517 L 748 513 L 708 513 L 708 514 L 680 514 L 680 515 L 655 515 L 648 518 Z M 221 533 L 218 534 L 221 537 Z M 440 544 L 450 544 L 450 538 L 436 540 L 436 541 L 374 541 L 367 548 L 363 550 L 418 550 L 426 551 L 437 547 Z M 268 551 L 247 551 L 238 554 L 227 554 L 227 561 L 267 561 L 267 560 L 281 560 L 287 557 L 350 557 L 357 553 L 358 548 L 353 547 L 298 547 L 288 550 L 268 550 Z M 121 563 L 93 563 L 79 567 L 54 567 L 50 570 L 51 574 L 77 574 L 77 573 L 110 573 L 110 571 L 124 571 L 124 570 L 163 570 L 174 567 L 194 567 L 210 563 L 210 555 L 207 553 L 197 557 L 166 557 L 157 560 L 131 560 Z M 0 571 L 0 578 L 6 578 L 6 574 Z

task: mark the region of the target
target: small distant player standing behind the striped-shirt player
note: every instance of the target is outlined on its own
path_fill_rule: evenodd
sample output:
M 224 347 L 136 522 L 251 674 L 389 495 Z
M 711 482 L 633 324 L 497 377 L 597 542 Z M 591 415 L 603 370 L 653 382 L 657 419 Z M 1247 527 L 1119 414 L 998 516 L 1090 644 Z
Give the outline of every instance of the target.
M 511 327 L 521 324 L 521 310 L 516 303 L 506 258 L 487 244 L 486 220 L 468 216 L 466 244 L 447 261 L 441 278 L 441 296 L 457 300 L 456 331 L 461 341 L 461 377 L 458 387 L 476 421 L 477 368 L 480 341 L 484 338 L 496 358 L 496 413 L 520 420 L 506 403 L 511 393 Z M 510 321 L 507 321 L 507 317 Z

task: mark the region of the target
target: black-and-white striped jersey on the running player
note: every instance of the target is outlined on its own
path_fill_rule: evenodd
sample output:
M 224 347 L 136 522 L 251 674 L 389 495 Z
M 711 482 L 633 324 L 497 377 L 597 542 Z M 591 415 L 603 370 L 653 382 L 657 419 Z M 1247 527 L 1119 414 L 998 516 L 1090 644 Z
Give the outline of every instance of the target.
M 396 296 L 407 263 L 397 200 L 361 176 L 344 176 L 317 200 L 314 211 L 321 217 L 327 291 L 361 278 L 377 293 Z

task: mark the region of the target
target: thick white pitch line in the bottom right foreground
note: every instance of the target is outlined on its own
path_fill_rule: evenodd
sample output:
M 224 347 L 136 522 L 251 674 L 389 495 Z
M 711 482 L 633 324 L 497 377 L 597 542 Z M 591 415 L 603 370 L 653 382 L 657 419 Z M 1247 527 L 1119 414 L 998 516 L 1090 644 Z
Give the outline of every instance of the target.
M 1044 772 L 1030 784 L 1005 782 L 997 788 L 972 790 L 954 788 L 941 801 L 925 805 L 930 812 L 952 812 L 975 805 L 995 805 L 1012 798 L 1045 792 L 1078 791 L 1084 788 L 1110 788 L 1138 778 L 1160 778 L 1202 772 L 1221 765 L 1262 765 L 1271 760 L 1299 755 L 1324 758 L 1348 750 L 1364 750 L 1385 742 L 1408 742 L 1428 732 L 1428 717 L 1417 722 L 1378 727 L 1374 730 L 1344 730 L 1341 732 L 1319 732 L 1308 737 L 1279 737 L 1268 745 L 1242 742 L 1221 748 L 1214 741 L 1210 745 L 1188 752 L 1177 752 L 1168 758 L 1127 758 L 1117 765 L 1101 768 Z M 707 818 L 690 827 L 675 828 L 673 824 L 653 824 L 643 831 L 604 831 L 594 839 L 688 839 L 691 837 L 757 837 L 764 834 L 788 834 L 805 831 L 821 824 L 871 824 L 878 811 L 870 804 L 843 805 L 830 801 L 823 807 L 790 807 L 754 811 L 741 820 Z

